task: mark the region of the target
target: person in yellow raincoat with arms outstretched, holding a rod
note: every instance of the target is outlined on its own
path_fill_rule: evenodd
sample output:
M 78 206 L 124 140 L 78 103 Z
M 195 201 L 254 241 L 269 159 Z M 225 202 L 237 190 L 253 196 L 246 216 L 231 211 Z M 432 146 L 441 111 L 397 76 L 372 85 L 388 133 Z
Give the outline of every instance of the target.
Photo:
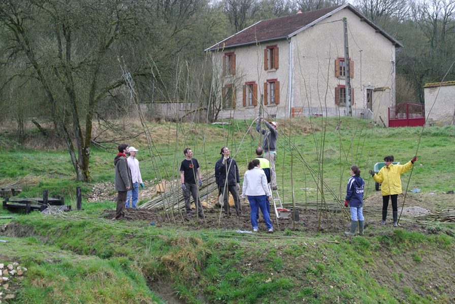
M 394 156 L 389 155 L 384 157 L 385 166 L 379 170 L 378 174 L 375 174 L 373 170 L 369 173 L 373 176 L 373 179 L 381 184 L 382 194 L 382 221 L 381 224 L 385 225 L 385 219 L 387 218 L 387 207 L 389 198 L 392 199 L 392 212 L 394 217 L 394 227 L 398 226 L 398 195 L 403 193 L 401 188 L 401 174 L 408 172 L 414 162 L 417 160 L 415 156 L 412 160 L 407 162 L 405 165 L 394 165 Z

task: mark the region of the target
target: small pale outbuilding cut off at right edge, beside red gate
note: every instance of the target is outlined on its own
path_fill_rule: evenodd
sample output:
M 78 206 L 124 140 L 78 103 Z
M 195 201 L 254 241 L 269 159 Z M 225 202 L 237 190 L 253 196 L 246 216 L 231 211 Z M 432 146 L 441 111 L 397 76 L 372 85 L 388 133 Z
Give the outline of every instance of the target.
M 455 122 L 455 81 L 425 84 L 424 94 L 428 122 Z

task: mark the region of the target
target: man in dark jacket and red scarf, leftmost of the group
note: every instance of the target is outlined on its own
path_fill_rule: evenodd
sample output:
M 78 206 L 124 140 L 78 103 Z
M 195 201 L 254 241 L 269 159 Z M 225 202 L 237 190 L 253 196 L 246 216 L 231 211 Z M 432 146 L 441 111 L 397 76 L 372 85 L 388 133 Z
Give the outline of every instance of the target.
M 117 194 L 117 207 L 115 217 L 113 219 L 127 219 L 125 216 L 125 203 L 126 203 L 126 192 L 133 185 L 131 179 L 131 171 L 129 171 L 128 162 L 126 161 L 126 152 L 128 151 L 128 145 L 122 143 L 118 145 L 118 154 L 114 158 L 115 165 L 115 190 Z

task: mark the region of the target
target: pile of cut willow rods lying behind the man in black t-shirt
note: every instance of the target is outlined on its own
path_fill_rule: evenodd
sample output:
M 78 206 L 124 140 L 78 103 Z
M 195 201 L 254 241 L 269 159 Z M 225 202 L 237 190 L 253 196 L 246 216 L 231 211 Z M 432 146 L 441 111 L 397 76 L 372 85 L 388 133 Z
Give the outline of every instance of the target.
M 167 211 L 177 210 L 185 206 L 185 199 L 183 197 L 182 189 L 180 188 L 179 182 L 173 183 L 168 191 L 165 193 L 158 194 L 155 198 L 139 206 L 141 209 L 165 209 Z M 202 186 L 199 187 L 199 197 L 209 195 L 215 189 L 217 185 L 215 183 L 215 174 L 209 176 L 203 176 Z M 192 197 L 191 197 L 192 200 Z

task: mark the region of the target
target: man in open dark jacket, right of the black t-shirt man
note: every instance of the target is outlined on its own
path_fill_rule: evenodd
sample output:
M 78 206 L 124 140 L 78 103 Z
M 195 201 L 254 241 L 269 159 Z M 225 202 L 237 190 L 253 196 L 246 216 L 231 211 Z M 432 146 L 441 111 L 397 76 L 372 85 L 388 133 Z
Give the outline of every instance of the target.
M 220 194 L 223 195 L 223 208 L 224 214 L 229 215 L 229 193 L 234 198 L 236 214 L 242 214 L 242 206 L 240 205 L 239 189 L 240 189 L 240 175 L 239 167 L 230 155 L 228 147 L 222 147 L 220 151 L 221 158 L 215 164 L 215 181 L 218 185 Z

